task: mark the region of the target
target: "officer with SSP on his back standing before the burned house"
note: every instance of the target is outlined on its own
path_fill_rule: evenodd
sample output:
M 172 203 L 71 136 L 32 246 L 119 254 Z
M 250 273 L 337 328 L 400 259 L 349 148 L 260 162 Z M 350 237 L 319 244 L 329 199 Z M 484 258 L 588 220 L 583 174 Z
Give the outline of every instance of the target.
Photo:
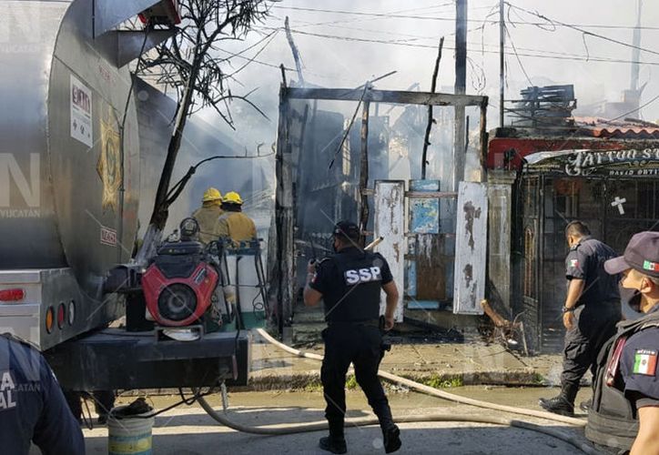
M 378 379 L 380 360 L 384 355 L 380 332 L 380 293 L 384 290 L 387 306 L 384 330 L 393 328 L 393 315 L 398 304 L 398 289 L 387 260 L 378 253 L 358 247 L 360 229 L 354 223 L 341 221 L 334 228 L 337 254 L 318 264 L 309 264 L 309 277 L 304 289 L 304 303 L 317 305 L 323 299 L 325 357 L 320 379 L 327 407 L 325 417 L 330 436 L 321 438 L 320 449 L 345 453 L 343 434 L 346 413 L 345 383 L 350 363 L 355 378 L 369 399 L 370 407 L 380 420 L 387 453 L 400 449 L 400 430 L 394 424 L 389 401 Z

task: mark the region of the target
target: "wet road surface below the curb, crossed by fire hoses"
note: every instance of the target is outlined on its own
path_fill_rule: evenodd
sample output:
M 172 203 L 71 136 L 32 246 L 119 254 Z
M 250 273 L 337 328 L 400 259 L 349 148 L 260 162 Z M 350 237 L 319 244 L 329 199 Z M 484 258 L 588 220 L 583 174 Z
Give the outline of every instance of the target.
M 460 395 L 492 402 L 537 409 L 537 399 L 552 396 L 553 388 L 504 388 L 471 386 L 451 389 Z M 587 390 L 585 390 L 587 394 Z M 583 397 L 586 397 L 583 394 Z M 573 435 L 580 441 L 583 430 L 563 426 L 549 420 L 515 416 L 513 414 L 473 408 L 432 398 L 414 392 L 390 392 L 390 403 L 397 419 L 419 414 L 491 415 L 534 422 L 545 427 Z M 580 396 L 580 399 L 583 398 Z M 121 399 L 123 402 L 133 397 Z M 154 397 L 157 409 L 176 402 L 177 396 Z M 221 410 L 219 397 L 209 399 L 216 410 Z M 368 403 L 359 390 L 347 393 L 348 417 L 371 416 Z M 228 416 L 245 425 L 288 424 L 323 420 L 324 406 L 320 391 L 260 391 L 229 393 Z M 444 454 L 510 454 L 510 453 L 583 453 L 570 444 L 532 430 L 510 428 L 471 422 L 401 423 L 403 448 L 398 453 Z M 198 406 L 182 406 L 157 417 L 153 430 L 153 449 L 157 454 L 207 453 L 327 453 L 318 449 L 318 439 L 324 432 L 301 433 L 287 436 L 258 436 L 229 430 L 211 420 Z M 105 427 L 85 430 L 89 454 L 106 453 Z M 380 430 L 377 427 L 352 427 L 346 430 L 349 453 L 384 453 Z

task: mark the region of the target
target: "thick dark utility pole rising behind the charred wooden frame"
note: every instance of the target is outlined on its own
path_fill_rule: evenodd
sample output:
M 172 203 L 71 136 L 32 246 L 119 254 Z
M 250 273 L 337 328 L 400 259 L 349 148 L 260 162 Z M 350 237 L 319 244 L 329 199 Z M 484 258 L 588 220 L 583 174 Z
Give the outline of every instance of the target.
M 464 95 L 467 89 L 467 0 L 455 3 L 455 94 Z M 455 106 L 455 133 L 453 136 L 453 189 L 458 190 L 464 180 L 466 161 L 464 106 Z

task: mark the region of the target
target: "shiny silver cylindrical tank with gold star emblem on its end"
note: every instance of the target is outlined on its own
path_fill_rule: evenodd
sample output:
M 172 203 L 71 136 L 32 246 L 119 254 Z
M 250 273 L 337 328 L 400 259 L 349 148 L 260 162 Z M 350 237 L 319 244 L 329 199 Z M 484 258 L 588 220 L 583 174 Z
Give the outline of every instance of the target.
M 105 300 L 101 287 L 107 270 L 130 258 L 137 233 L 130 74 L 112 63 L 112 40 L 93 36 L 120 15 L 113 6 L 104 20 L 96 5 L 95 21 L 93 8 L 92 0 L 0 0 L 0 273 L 71 276 L 76 284 L 62 299 L 82 303 L 84 323 L 58 339 L 117 316 L 117 302 Z

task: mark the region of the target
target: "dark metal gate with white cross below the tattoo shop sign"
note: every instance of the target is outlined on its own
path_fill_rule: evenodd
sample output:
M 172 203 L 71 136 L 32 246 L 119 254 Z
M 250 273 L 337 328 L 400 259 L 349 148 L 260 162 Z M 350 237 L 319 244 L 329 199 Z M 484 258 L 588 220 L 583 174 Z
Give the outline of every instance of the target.
M 517 197 L 517 307 L 523 311 L 530 347 L 557 352 L 563 349 L 564 334 L 565 226 L 579 219 L 593 238 L 622 254 L 634 233 L 659 230 L 659 182 L 525 174 Z

